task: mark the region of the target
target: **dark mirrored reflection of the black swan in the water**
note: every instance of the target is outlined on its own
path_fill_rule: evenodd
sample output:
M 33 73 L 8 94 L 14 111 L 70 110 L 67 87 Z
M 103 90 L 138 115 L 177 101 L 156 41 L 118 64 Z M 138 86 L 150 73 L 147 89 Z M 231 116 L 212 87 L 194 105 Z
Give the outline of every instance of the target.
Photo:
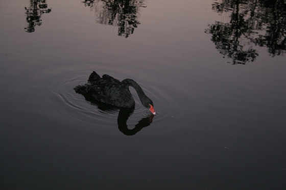
M 138 123 L 135 125 L 133 129 L 129 129 L 127 125 L 128 118 L 133 114 L 134 108 L 120 108 L 113 105 L 109 105 L 106 103 L 102 103 L 91 95 L 85 94 L 83 95 L 85 100 L 90 102 L 92 105 L 95 105 L 99 108 L 100 111 L 103 113 L 114 113 L 119 110 L 118 117 L 117 117 L 117 125 L 118 129 L 123 132 L 125 135 L 134 135 L 139 132 L 142 128 L 149 126 L 152 123 L 152 119 L 154 118 L 153 114 L 142 118 Z

